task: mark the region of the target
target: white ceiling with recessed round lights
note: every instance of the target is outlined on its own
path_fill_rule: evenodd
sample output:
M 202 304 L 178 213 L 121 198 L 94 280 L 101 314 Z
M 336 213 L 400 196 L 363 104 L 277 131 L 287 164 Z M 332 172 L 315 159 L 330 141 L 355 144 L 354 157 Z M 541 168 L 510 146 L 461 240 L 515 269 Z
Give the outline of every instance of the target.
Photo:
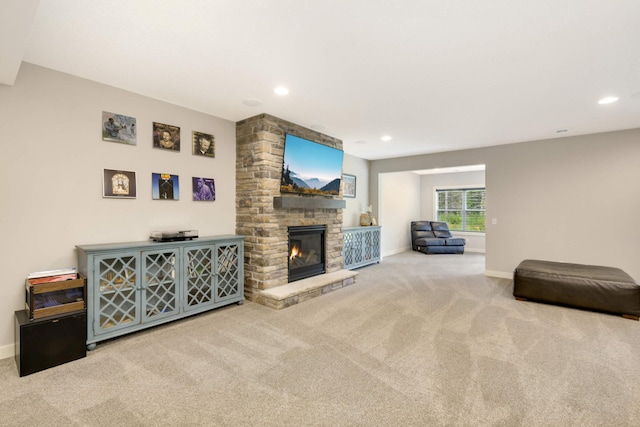
M 232 121 L 321 125 L 365 159 L 640 127 L 639 0 L 1 4 L 4 84 L 26 61 Z

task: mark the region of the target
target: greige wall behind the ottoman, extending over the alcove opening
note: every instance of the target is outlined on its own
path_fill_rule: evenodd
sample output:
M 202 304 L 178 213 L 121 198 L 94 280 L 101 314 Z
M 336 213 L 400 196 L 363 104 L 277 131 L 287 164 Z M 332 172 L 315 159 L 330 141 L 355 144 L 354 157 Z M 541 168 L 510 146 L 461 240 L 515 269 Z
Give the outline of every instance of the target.
M 376 160 L 370 197 L 378 206 L 382 173 L 485 164 L 487 274 L 538 258 L 620 267 L 638 281 L 638 159 L 640 129 Z

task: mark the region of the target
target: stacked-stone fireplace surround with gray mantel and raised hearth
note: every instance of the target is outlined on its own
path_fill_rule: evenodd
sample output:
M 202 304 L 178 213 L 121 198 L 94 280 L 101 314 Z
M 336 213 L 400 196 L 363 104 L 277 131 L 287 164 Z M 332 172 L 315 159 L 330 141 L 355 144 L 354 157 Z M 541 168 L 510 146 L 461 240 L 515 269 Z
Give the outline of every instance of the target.
M 342 150 L 339 139 L 268 114 L 236 123 L 236 233 L 247 236 L 245 297 L 273 308 L 349 285 L 357 274 L 342 270 L 342 197 L 280 194 L 287 133 Z M 291 282 L 290 227 L 310 226 L 324 229 L 324 274 Z

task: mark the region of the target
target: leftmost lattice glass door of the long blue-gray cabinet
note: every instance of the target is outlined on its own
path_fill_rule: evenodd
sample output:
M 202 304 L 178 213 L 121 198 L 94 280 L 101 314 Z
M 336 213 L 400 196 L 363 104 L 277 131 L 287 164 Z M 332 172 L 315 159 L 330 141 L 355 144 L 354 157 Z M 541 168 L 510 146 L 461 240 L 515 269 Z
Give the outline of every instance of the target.
M 138 268 L 137 253 L 96 256 L 93 319 L 96 334 L 140 323 Z

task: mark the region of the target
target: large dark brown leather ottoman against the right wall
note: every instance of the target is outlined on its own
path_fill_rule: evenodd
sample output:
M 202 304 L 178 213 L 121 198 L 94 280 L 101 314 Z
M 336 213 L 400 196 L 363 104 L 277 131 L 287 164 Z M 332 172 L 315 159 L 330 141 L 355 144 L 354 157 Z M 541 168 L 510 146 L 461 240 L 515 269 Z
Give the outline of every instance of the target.
M 513 272 L 513 296 L 640 318 L 640 285 L 619 268 L 524 260 Z

